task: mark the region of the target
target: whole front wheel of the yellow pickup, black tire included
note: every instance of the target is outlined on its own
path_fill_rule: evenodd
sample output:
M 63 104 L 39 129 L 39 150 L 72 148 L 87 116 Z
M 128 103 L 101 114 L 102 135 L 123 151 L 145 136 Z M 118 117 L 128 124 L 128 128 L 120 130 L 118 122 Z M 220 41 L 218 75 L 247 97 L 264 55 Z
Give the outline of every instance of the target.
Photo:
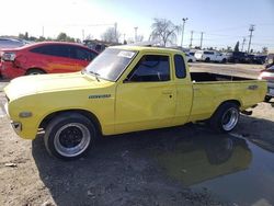
M 56 116 L 46 127 L 44 137 L 48 153 L 64 160 L 82 157 L 95 139 L 95 125 L 78 113 L 64 113 Z

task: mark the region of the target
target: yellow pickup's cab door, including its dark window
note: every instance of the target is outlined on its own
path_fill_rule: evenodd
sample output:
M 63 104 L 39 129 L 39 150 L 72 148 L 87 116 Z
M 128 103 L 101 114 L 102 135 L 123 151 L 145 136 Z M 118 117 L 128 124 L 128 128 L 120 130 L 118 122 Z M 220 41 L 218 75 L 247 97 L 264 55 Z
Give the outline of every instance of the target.
M 171 126 L 176 88 L 169 55 L 144 55 L 116 89 L 115 131 Z

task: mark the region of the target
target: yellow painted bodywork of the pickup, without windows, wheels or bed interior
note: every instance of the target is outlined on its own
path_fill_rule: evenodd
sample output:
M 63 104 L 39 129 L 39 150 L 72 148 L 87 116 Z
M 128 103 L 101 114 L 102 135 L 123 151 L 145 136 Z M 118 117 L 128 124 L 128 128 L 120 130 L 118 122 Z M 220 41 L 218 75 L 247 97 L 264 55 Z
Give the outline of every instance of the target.
M 122 134 L 159 127 L 183 125 L 210 117 L 220 103 L 237 100 L 241 108 L 264 99 L 265 81 L 192 83 L 189 68 L 184 79 L 174 75 L 175 49 L 121 46 L 138 52 L 116 82 L 96 79 L 81 72 L 20 77 L 4 88 L 10 99 L 8 112 L 13 122 L 22 123 L 19 136 L 34 139 L 42 121 L 55 112 L 83 110 L 100 122 L 103 135 Z M 132 82 L 124 80 L 144 55 L 170 57 L 171 80 L 163 82 Z M 248 90 L 250 84 L 258 90 Z M 107 98 L 94 98 L 106 95 Z M 93 98 L 89 98 L 93 96 Z M 194 98 L 194 99 L 193 99 Z M 21 112 L 33 116 L 19 117 Z

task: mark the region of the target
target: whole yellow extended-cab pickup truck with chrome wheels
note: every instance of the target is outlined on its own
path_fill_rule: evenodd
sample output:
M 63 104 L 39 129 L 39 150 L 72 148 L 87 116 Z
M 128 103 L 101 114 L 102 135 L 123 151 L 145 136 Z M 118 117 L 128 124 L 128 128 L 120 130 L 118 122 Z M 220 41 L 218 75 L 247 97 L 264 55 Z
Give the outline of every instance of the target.
M 4 88 L 16 134 L 44 130 L 49 153 L 75 159 L 96 137 L 207 121 L 232 130 L 264 99 L 266 82 L 190 72 L 176 49 L 117 46 L 75 73 L 20 77 Z

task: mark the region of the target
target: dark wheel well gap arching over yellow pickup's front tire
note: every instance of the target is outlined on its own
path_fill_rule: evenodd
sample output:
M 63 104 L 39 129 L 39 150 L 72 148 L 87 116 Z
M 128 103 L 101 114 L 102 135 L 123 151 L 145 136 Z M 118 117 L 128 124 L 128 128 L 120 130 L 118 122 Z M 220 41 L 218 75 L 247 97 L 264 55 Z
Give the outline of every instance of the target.
M 85 111 L 85 110 L 67 110 L 67 111 L 59 111 L 59 112 L 55 112 L 55 113 L 52 113 L 49 115 L 47 115 L 39 124 L 39 128 L 43 128 L 45 129 L 48 125 L 48 123 L 55 118 L 57 115 L 60 115 L 60 114 L 64 114 L 64 113 L 78 113 L 78 114 L 81 114 L 83 116 L 85 116 L 87 118 L 89 118 L 90 121 L 92 121 L 92 123 L 95 124 L 95 127 L 98 128 L 98 130 L 100 131 L 100 134 L 102 134 L 102 127 L 101 127 L 101 124 L 98 119 L 98 117 L 92 114 L 91 112 L 89 111 Z

